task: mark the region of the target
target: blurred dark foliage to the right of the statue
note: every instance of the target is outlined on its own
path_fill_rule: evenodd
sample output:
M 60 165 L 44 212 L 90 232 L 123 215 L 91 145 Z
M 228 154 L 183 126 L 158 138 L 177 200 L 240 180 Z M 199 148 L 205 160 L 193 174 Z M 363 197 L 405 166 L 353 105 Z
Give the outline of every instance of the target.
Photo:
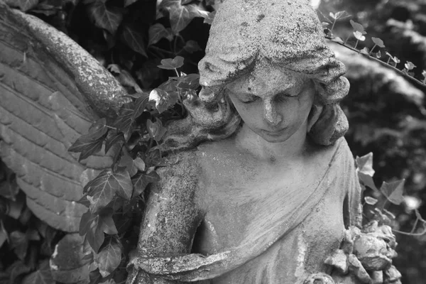
M 381 38 L 386 47 L 371 49 L 372 55 L 375 56 L 374 53 L 381 50 L 380 60 L 389 62 L 398 70 L 405 70 L 424 82 L 424 2 L 323 0 L 320 3 L 320 11 L 326 16 L 328 11 L 337 13 L 343 10 L 351 14 L 351 20 L 360 23 L 366 32 L 363 34 L 366 40 L 359 41 L 359 50 L 372 48 L 376 44 L 373 38 Z M 336 23 L 333 33 L 343 40 L 350 36 L 347 43 L 354 46 L 354 29 L 356 30 L 351 26 L 349 18 L 346 18 Z M 424 282 L 422 271 L 426 271 L 426 236 L 420 234 L 422 226 L 417 226 L 422 223 L 418 219 L 420 214 L 426 216 L 426 119 L 422 110 L 425 102 L 414 104 L 409 93 L 396 95 L 392 92 L 391 84 L 385 83 L 388 79 L 384 76 L 375 77 L 375 81 L 368 81 L 366 78 L 368 75 L 363 80 L 349 78 L 351 92 L 342 102 L 350 124 L 346 140 L 354 155 L 374 153 L 373 168 L 376 173 L 372 180 L 376 185 L 380 185 L 383 180 L 393 182 L 405 179 L 403 202 L 400 205 L 387 202 L 387 209 L 396 216 L 393 221 L 394 230 L 417 235 L 396 233 L 398 257 L 394 262 L 403 273 L 403 283 L 420 284 Z M 425 87 L 421 84 L 413 84 L 425 92 Z M 377 192 L 371 187 L 365 194 L 377 197 Z M 371 205 L 364 207 L 367 216 L 371 208 Z

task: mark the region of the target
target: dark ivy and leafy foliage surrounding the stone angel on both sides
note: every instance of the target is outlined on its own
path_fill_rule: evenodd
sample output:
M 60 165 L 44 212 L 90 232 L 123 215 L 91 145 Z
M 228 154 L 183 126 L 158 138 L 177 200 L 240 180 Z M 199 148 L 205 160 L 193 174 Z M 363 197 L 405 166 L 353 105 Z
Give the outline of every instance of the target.
M 94 121 L 89 133 L 69 149 L 80 153 L 80 160 L 99 152 L 114 157 L 111 169 L 84 187 L 80 202 L 87 206 L 87 212 L 80 222 L 80 235 L 89 243 L 84 258 L 92 262 L 90 283 L 124 283 L 126 257 L 136 246 L 146 189 L 159 179 L 155 168 L 167 166 L 158 145 L 165 126 L 186 115 L 183 101 L 197 99 L 197 62 L 204 55 L 209 24 L 222 1 L 6 2 L 67 33 L 121 82 L 132 99 L 121 107 L 114 121 Z M 426 21 L 421 16 L 425 9 L 421 1 L 312 2 L 320 4 L 329 38 L 371 60 L 392 65 L 418 82 L 425 81 L 425 60 L 419 60 L 426 59 L 426 46 L 421 44 L 426 42 L 422 38 Z M 389 23 L 388 18 L 395 21 Z M 365 188 L 366 220 L 378 219 L 410 234 L 398 234 L 400 256 L 395 262 L 403 273 L 403 283 L 423 283 L 424 106 L 387 97 L 376 89 L 379 82 L 368 85 L 349 79 L 351 94 L 343 102 L 351 123 L 346 139 L 354 155 L 361 156 L 356 164 Z M 416 87 L 425 90 L 416 82 Z M 369 152 L 374 153 L 374 159 L 365 155 Z M 7 245 L 1 246 L 0 252 L 7 257 L 1 259 L 0 283 L 54 283 L 46 263 L 63 234 L 32 216 L 13 180 L 13 173 L 1 165 L 0 246 Z

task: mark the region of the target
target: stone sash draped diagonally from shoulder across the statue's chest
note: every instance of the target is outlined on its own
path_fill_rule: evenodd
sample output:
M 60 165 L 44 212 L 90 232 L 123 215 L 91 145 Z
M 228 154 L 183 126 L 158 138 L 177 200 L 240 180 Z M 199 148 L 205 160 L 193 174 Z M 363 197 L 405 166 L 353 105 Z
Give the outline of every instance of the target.
M 343 144 L 343 145 L 342 145 Z M 348 184 L 344 173 L 346 165 L 353 163 L 346 141 L 337 141 L 334 155 L 329 160 L 329 167 L 311 192 L 305 195 L 289 196 L 279 212 L 269 216 L 264 224 L 260 224 L 250 236 L 242 239 L 237 246 L 215 253 L 211 256 L 188 254 L 167 258 L 133 258 L 131 263 L 143 271 L 153 275 L 161 275 L 170 280 L 196 281 L 212 279 L 241 266 L 266 251 L 278 239 L 302 222 L 312 209 L 322 200 L 330 188 L 346 190 Z M 356 209 L 349 211 L 356 211 Z M 356 222 L 356 221 L 351 221 Z

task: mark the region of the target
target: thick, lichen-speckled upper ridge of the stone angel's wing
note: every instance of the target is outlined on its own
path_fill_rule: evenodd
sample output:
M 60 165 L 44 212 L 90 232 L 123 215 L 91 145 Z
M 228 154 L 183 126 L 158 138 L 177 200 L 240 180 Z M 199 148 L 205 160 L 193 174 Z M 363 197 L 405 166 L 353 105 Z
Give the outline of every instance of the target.
M 3 7 L 1 7 L 3 6 Z M 126 90 L 121 84 L 70 37 L 35 16 L 10 9 L 0 1 L 1 9 L 7 11 L 26 29 L 31 38 L 74 77 L 78 89 L 93 109 L 102 116 L 115 116 L 126 99 Z M 34 45 L 34 44 L 33 44 Z M 112 111 L 111 111 L 112 110 Z

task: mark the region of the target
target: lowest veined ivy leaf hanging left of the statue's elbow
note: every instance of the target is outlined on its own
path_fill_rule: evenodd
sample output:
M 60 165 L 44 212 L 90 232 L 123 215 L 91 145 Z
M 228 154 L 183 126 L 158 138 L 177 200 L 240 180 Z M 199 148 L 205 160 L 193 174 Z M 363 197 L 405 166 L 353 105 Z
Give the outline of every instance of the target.
M 114 238 L 109 237 L 102 250 L 94 256 L 94 265 L 99 268 L 99 273 L 105 278 L 119 267 L 120 262 L 121 246 L 114 241 Z

